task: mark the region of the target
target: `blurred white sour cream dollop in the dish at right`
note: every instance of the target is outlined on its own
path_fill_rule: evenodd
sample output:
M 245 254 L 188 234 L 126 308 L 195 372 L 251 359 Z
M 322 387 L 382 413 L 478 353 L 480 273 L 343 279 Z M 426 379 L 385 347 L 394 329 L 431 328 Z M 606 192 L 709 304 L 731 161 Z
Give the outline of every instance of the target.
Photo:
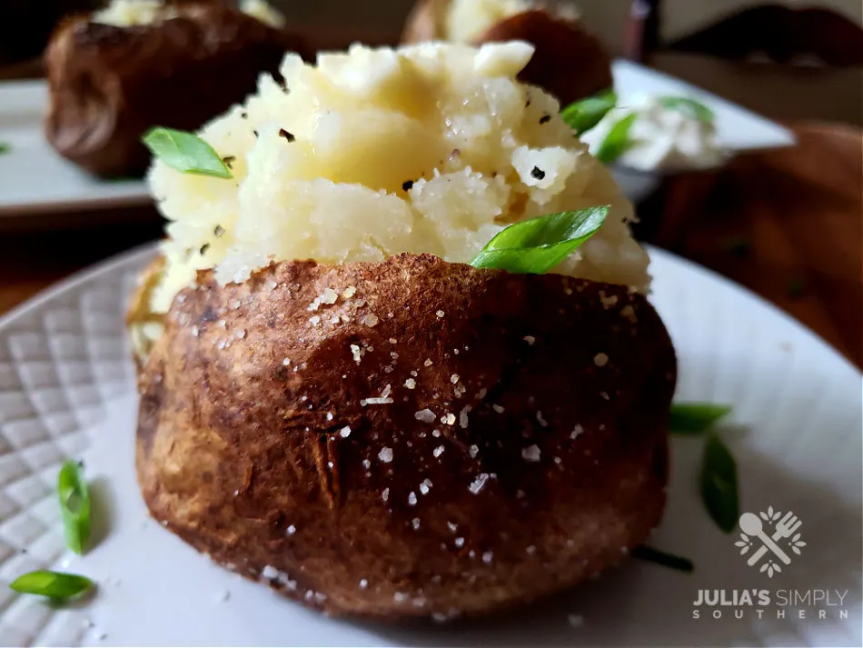
M 581 135 L 596 155 L 611 128 L 635 114 L 630 126 L 630 146 L 614 164 L 640 171 L 705 169 L 723 164 L 729 152 L 719 144 L 712 120 L 670 107 L 657 95 L 621 98 L 600 123 Z

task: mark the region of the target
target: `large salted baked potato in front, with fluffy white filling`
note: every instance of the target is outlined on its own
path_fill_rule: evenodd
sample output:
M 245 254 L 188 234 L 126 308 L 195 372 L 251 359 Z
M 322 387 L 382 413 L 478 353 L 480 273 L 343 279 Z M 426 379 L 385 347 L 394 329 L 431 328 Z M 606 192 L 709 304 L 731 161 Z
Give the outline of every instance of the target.
M 659 523 L 674 349 L 631 204 L 517 80 L 531 53 L 289 55 L 292 92 L 263 79 L 195 135 L 230 174 L 155 160 L 136 470 L 217 563 L 327 613 L 446 619 L 579 583 Z M 551 274 L 469 264 L 590 205 Z

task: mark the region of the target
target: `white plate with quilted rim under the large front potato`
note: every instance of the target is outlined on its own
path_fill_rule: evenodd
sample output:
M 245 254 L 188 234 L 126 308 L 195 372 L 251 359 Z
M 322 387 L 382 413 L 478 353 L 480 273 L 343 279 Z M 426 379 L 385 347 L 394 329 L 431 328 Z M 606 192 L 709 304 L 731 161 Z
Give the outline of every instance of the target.
M 720 533 L 700 503 L 700 440 L 677 437 L 668 511 L 650 542 L 691 558 L 694 573 L 630 561 L 502 619 L 387 626 L 305 610 L 148 521 L 134 481 L 137 399 L 123 311 L 152 254 L 119 257 L 0 320 L 0 643 L 861 645 L 861 375 L 738 286 L 652 251 L 653 299 L 679 354 L 679 399 L 735 406 L 723 434 L 739 462 L 742 510 L 793 511 L 806 542 L 800 555 L 791 553 L 772 577 L 749 567 L 757 547 L 741 557 L 739 535 Z M 64 552 L 53 492 L 67 456 L 83 458 L 94 480 L 102 540 L 84 558 Z M 55 609 L 6 589 L 47 566 L 94 578 L 94 600 Z M 770 601 L 716 607 L 719 620 L 699 608 L 693 619 L 699 590 L 717 589 L 729 599 L 733 590 L 764 591 Z M 813 591 L 830 598 L 813 603 Z M 808 601 L 783 606 L 791 592 L 808 593 Z M 580 627 L 570 614 L 583 618 Z

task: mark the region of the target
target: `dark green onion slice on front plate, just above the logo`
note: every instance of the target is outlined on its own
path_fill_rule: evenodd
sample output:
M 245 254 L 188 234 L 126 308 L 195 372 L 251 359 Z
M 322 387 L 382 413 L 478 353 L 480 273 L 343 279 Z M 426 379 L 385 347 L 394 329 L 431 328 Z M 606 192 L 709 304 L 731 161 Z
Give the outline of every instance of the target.
M 701 500 L 710 517 L 725 533 L 737 527 L 740 516 L 737 462 L 716 434 L 709 434 L 701 460 Z

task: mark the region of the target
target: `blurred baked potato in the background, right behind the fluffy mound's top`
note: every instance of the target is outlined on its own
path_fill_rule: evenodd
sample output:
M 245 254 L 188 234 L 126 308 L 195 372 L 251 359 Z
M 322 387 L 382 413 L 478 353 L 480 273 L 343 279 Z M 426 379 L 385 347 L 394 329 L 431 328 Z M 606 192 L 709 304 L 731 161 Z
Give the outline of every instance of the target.
M 560 105 L 613 85 L 611 59 L 578 19 L 535 3 L 514 0 L 419 0 L 402 29 L 402 43 L 451 40 L 473 45 L 522 40 L 536 47 L 521 72 Z

